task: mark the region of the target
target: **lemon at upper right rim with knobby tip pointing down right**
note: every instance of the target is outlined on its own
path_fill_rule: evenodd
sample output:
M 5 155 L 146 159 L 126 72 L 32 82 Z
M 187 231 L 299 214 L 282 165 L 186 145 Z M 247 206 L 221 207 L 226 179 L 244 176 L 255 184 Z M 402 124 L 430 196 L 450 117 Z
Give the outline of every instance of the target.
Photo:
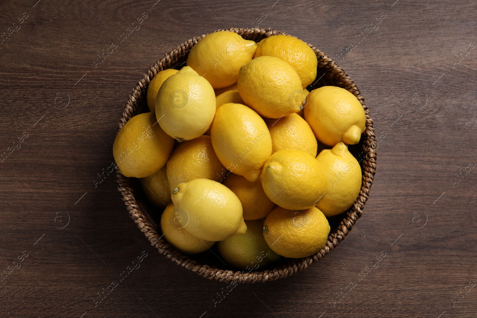
M 334 146 L 340 142 L 357 144 L 365 130 L 363 106 L 347 90 L 323 86 L 310 92 L 305 107 L 305 120 L 316 138 Z

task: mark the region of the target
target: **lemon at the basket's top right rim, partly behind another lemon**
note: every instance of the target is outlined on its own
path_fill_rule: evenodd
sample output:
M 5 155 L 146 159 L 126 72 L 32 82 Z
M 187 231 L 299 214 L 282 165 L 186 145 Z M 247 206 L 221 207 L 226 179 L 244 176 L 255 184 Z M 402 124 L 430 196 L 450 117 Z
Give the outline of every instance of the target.
M 254 57 L 275 56 L 290 64 L 300 75 L 303 88 L 316 78 L 318 60 L 315 52 L 305 42 L 290 35 L 272 35 L 257 44 Z

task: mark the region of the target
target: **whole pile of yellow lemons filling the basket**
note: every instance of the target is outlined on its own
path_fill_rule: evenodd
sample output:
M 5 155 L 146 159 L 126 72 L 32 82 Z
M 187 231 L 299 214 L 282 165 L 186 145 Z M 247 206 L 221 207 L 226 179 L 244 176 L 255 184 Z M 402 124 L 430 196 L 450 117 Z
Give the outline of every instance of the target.
M 150 112 L 124 125 L 113 154 L 164 209 L 171 246 L 195 254 L 217 242 L 228 263 L 249 271 L 321 250 L 327 217 L 361 188 L 347 145 L 359 142 L 365 114 L 342 88 L 306 90 L 317 64 L 291 36 L 256 43 L 218 31 L 197 42 L 187 66 L 157 73 Z

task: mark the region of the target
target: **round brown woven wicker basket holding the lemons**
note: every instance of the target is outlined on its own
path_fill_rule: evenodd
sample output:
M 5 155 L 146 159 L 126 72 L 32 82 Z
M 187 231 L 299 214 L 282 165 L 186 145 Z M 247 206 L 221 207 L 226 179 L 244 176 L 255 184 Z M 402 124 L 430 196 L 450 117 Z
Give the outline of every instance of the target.
M 223 30 L 218 30 L 223 31 Z M 231 28 L 227 31 L 232 31 L 244 39 L 260 41 L 266 37 L 276 34 L 286 34 L 273 29 L 242 29 L 242 28 Z M 146 100 L 146 90 L 149 82 L 157 74 L 157 72 L 168 69 L 168 68 L 177 68 L 180 69 L 181 65 L 184 64 L 187 60 L 187 54 L 192 49 L 192 47 L 202 39 L 205 34 L 195 37 L 185 43 L 179 45 L 175 50 L 167 53 L 162 59 L 158 60 L 154 65 L 152 65 L 149 70 L 143 75 L 139 80 L 133 92 L 129 96 L 126 104 L 124 105 L 123 115 L 118 121 L 118 131 L 121 129 L 124 124 L 134 115 L 141 112 L 148 112 L 147 106 L 145 105 Z M 134 220 L 136 225 L 141 229 L 144 235 L 147 237 L 151 245 L 154 245 L 159 253 L 164 254 L 167 258 L 170 258 L 177 265 L 181 265 L 191 271 L 196 272 L 203 277 L 208 279 L 215 279 L 225 282 L 238 282 L 238 283 L 255 283 L 255 282 L 265 282 L 267 280 L 275 280 L 282 277 L 287 277 L 299 272 L 302 269 L 308 268 L 313 262 L 318 261 L 321 257 L 330 253 L 330 251 L 338 246 L 338 243 L 344 239 L 344 237 L 351 231 L 356 220 L 363 214 L 363 207 L 366 203 L 366 200 L 373 184 L 373 177 L 376 169 L 376 140 L 373 129 L 373 120 L 369 115 L 368 108 L 364 104 L 364 97 L 361 96 L 360 91 L 356 84 L 348 77 L 348 75 L 343 71 L 343 69 L 338 66 L 332 59 L 330 59 L 326 54 L 321 52 L 319 49 L 315 48 L 313 45 L 309 44 L 311 49 L 316 53 L 318 58 L 318 76 L 319 80 L 309 86 L 309 89 L 314 89 L 324 85 L 334 85 L 342 87 L 349 92 L 352 92 L 354 96 L 360 101 L 363 105 L 364 112 L 366 113 L 366 130 L 361 136 L 361 141 L 357 145 L 350 146 L 349 149 L 352 154 L 360 161 L 362 172 L 363 172 L 363 183 L 361 185 L 361 190 L 358 198 L 348 211 L 342 213 L 341 215 L 336 215 L 329 219 L 331 232 L 328 236 L 328 241 L 326 245 L 316 254 L 303 257 L 300 259 L 290 259 L 285 258 L 285 263 L 276 266 L 275 268 L 266 269 L 260 272 L 245 272 L 245 271 L 233 271 L 233 270 L 223 270 L 216 269 L 214 267 L 222 267 L 221 264 L 218 266 L 208 266 L 200 265 L 200 263 L 207 262 L 208 264 L 213 263 L 212 258 L 213 254 L 210 254 L 212 258 L 207 259 L 204 256 L 192 256 L 196 260 L 192 260 L 189 256 L 183 255 L 173 247 L 168 245 L 161 237 L 160 226 L 158 226 L 154 219 L 154 211 L 152 214 L 148 213 L 147 210 L 152 212 L 152 207 L 147 206 L 147 201 L 145 196 L 142 194 L 140 187 L 137 185 L 135 179 L 130 179 L 125 177 L 117 170 L 117 182 L 118 190 L 123 196 L 124 204 L 129 212 L 129 215 Z M 322 76 L 323 75 L 323 76 Z M 136 185 L 135 185 L 136 184 Z M 133 188 L 139 190 L 136 193 L 136 197 L 133 191 Z M 142 197 L 141 197 L 142 196 Z M 156 213 L 156 219 L 159 216 Z M 205 252 L 204 252 L 205 253 Z M 212 252 L 213 253 L 213 252 Z M 197 261 L 200 259 L 201 261 Z

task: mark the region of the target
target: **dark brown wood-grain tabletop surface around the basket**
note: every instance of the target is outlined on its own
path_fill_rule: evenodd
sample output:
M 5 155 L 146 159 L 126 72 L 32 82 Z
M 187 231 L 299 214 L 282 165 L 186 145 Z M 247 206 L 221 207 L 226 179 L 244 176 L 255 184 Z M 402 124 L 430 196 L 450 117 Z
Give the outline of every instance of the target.
M 476 317 L 475 1 L 37 1 L 0 5 L 0 272 L 17 267 L 0 283 L 1 317 Z M 98 173 L 149 65 L 194 36 L 252 23 L 332 58 L 355 44 L 340 65 L 373 117 L 377 173 L 330 255 L 215 303 L 228 285 L 158 254 L 114 175 L 99 183 Z

